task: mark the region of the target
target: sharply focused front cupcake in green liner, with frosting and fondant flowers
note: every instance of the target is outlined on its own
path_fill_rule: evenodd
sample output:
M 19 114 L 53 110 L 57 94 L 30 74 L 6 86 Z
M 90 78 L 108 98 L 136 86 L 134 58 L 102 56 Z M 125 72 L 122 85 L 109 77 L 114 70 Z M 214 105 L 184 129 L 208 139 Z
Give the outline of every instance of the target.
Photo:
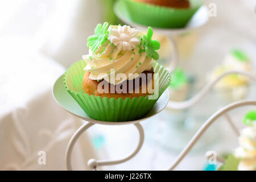
M 68 92 L 93 119 L 131 121 L 145 115 L 170 82 L 154 60 L 160 43 L 152 28 L 143 35 L 130 26 L 98 24 L 89 36 L 89 54 L 65 74 Z

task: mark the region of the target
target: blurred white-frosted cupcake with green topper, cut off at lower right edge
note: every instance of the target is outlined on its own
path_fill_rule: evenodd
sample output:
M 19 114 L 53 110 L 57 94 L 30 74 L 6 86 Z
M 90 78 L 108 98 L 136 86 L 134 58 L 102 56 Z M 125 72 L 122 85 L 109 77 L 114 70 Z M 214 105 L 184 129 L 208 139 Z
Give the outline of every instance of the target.
M 256 110 L 245 114 L 247 126 L 239 137 L 240 147 L 229 155 L 218 171 L 256 171 Z

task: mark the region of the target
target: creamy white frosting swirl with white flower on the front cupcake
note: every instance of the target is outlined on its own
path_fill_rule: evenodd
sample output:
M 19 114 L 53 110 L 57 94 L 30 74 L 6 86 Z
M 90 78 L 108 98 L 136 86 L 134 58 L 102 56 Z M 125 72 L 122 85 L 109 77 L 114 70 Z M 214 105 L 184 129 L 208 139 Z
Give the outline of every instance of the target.
M 109 31 L 110 41 L 106 40 L 94 53 L 89 50 L 89 55 L 82 56 L 87 63 L 84 70 L 90 72 L 90 79 L 105 79 L 117 85 L 151 69 L 152 58 L 147 56 L 142 46 L 138 46 L 141 32 L 129 26 L 110 26 Z M 118 73 L 124 75 L 118 77 Z

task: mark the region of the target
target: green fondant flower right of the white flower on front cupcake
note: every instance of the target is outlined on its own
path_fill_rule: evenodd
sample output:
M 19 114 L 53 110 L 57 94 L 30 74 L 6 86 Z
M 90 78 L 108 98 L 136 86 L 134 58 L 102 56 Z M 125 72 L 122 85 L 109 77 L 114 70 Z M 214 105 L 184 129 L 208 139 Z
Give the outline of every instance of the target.
M 159 59 L 159 54 L 156 52 L 160 48 L 160 43 L 157 40 L 152 40 L 153 30 L 151 27 L 147 28 L 147 35 L 143 35 L 144 48 L 148 57 L 154 60 Z

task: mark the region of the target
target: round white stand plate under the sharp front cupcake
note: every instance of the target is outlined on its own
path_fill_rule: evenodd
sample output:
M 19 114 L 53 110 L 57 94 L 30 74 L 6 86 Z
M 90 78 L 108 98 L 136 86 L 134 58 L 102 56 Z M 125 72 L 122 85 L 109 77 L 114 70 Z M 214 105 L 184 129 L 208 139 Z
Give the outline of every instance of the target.
M 77 102 L 71 97 L 71 95 L 67 92 L 67 90 L 64 87 L 63 79 L 64 79 L 64 75 L 60 76 L 56 80 L 55 84 L 53 85 L 52 92 L 56 102 L 61 107 L 63 107 L 65 110 L 75 115 L 76 117 L 79 117 L 85 121 L 93 122 L 100 125 L 129 125 L 129 124 L 141 122 L 144 119 L 150 118 L 153 115 L 158 114 L 160 111 L 162 111 L 164 107 L 166 107 L 169 101 L 169 93 L 168 93 L 168 89 L 166 89 L 162 94 L 162 96 L 159 98 L 159 100 L 156 102 L 154 107 L 152 107 L 149 113 L 141 119 L 138 119 L 136 121 L 126 121 L 126 122 L 98 121 L 90 118 L 89 115 L 87 115 L 85 111 L 82 110 L 82 108 L 79 106 L 79 104 L 77 104 Z

